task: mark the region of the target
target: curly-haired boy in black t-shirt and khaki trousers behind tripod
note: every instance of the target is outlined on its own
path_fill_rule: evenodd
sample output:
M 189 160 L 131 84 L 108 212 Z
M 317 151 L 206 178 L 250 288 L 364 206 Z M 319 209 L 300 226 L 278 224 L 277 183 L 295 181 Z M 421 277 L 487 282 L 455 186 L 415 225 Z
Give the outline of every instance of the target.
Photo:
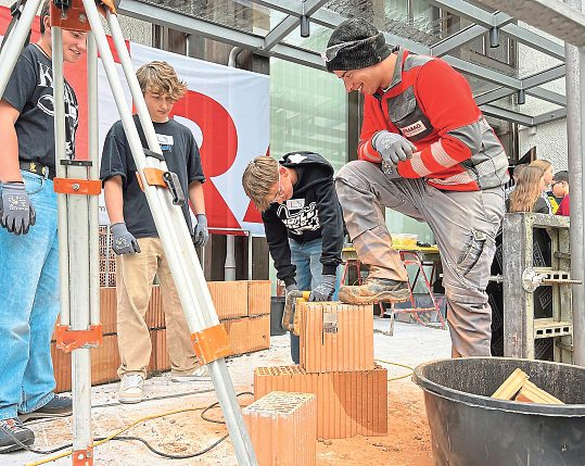
M 196 226 L 195 245 L 207 242 L 207 221 L 198 144 L 189 128 L 169 118 L 173 105 L 182 98 L 187 85 L 165 62 L 151 62 L 137 71 L 138 81 L 147 101 L 150 117 L 168 169 L 175 173 L 183 192 L 189 194 Z M 135 115 L 142 146 L 148 148 L 138 115 Z M 122 122 L 110 129 L 103 148 L 101 179 L 105 206 L 112 224 L 116 256 L 117 333 L 122 365 L 119 401 L 142 401 L 142 383 L 151 355 L 149 329 L 144 315 L 154 276 L 161 280 L 163 307 L 167 326 L 167 347 L 173 364 L 174 381 L 201 377 L 187 320 L 175 282 L 166 261 L 154 219 L 137 177 L 137 168 Z M 183 206 L 185 219 L 191 230 L 189 205 Z

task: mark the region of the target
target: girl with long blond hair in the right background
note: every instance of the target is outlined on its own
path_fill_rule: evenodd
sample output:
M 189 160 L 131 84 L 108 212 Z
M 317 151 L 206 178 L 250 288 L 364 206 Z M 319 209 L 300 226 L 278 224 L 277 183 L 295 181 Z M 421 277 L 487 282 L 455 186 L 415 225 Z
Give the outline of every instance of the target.
M 509 213 L 534 212 L 539 214 L 550 213 L 542 193 L 546 188 L 545 173 L 536 165 L 525 167 L 520 176 L 516 189 L 506 201 Z

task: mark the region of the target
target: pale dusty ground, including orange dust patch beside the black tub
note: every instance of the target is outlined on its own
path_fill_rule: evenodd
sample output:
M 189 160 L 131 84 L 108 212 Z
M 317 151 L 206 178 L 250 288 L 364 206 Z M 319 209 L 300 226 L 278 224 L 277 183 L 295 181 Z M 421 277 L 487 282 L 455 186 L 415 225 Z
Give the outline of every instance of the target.
M 387 328 L 387 319 L 374 322 L 377 328 Z M 237 393 L 253 391 L 253 369 L 258 366 L 290 364 L 288 336 L 275 337 L 270 350 L 228 361 L 228 369 Z M 396 323 L 395 335 L 374 333 L 374 352 L 379 360 L 415 366 L 421 362 L 448 357 L 448 331 L 429 329 L 419 325 Z M 387 366 L 389 378 L 408 373 L 407 369 Z M 201 417 L 202 407 L 216 400 L 211 381 L 173 382 L 168 375 L 151 378 L 145 382 L 148 400 L 137 405 L 117 402 L 118 383 L 93 389 L 93 434 L 107 437 L 144 416 L 175 410 L 191 410 L 150 420 L 141 420 L 124 436 L 141 437 L 167 454 L 188 455 L 199 452 L 226 434 L 226 428 Z M 242 405 L 252 396 L 242 394 Z M 221 418 L 219 408 L 207 412 L 207 417 Z M 72 418 L 34 421 L 28 426 L 35 431 L 35 448 L 49 450 L 72 441 Z M 29 452 L 0 456 L 0 465 L 38 465 L 49 459 Z M 429 426 L 424 414 L 422 390 L 410 378 L 389 381 L 389 433 L 385 437 L 356 437 L 343 440 L 319 440 L 318 465 L 391 465 L 431 466 L 432 453 Z M 71 457 L 47 463 L 71 465 Z M 188 459 L 165 459 L 150 452 L 137 441 L 110 441 L 96 448 L 96 465 L 237 465 L 236 455 L 228 440 L 209 452 Z

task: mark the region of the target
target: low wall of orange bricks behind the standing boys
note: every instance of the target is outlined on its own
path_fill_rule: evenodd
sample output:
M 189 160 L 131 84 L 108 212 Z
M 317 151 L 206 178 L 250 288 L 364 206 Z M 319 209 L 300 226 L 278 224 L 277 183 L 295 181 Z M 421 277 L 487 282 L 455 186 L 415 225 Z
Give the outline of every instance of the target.
M 217 315 L 226 327 L 232 354 L 259 351 L 270 347 L 270 281 L 211 281 L 207 284 Z M 91 351 L 92 385 L 118 380 L 119 354 L 116 328 L 116 289 L 100 289 L 103 344 Z M 152 353 L 149 374 L 170 369 L 166 345 L 166 323 L 160 286 L 155 285 L 147 311 Z M 56 392 L 72 387 L 71 354 L 51 342 Z

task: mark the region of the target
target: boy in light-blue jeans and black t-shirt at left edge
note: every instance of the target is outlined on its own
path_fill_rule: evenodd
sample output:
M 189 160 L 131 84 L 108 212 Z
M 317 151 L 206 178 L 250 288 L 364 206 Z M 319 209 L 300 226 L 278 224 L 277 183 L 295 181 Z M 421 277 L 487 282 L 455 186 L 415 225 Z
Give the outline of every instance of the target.
M 0 453 L 21 449 L 13 438 L 34 443 L 22 420 L 72 413 L 71 399 L 53 393 L 50 345 L 60 297 L 49 1 L 40 34 L 22 51 L 0 100 Z M 86 36 L 63 30 L 65 62 L 79 62 Z M 64 98 L 73 159 L 77 99 L 67 83 Z

